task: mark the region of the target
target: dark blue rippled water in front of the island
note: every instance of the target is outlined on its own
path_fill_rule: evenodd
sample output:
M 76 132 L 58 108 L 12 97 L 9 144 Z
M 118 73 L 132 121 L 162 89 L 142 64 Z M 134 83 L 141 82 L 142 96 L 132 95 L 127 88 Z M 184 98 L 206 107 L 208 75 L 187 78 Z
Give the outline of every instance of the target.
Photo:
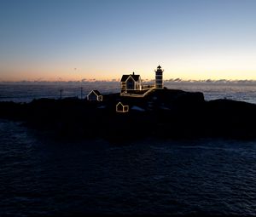
M 256 141 L 58 141 L 0 120 L 0 216 L 256 214 Z

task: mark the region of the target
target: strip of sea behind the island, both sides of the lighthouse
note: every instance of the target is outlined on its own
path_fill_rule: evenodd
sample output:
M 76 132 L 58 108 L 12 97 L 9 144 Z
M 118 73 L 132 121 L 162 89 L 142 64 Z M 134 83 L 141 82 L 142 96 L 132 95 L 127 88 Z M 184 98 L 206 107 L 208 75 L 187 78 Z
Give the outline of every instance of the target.
M 256 83 L 174 83 L 166 82 L 168 89 L 183 89 L 185 91 L 201 91 L 206 100 L 230 99 L 243 100 L 256 104 Z M 30 102 L 38 98 L 82 97 L 92 89 L 98 89 L 102 94 L 118 93 L 120 85 L 117 82 L 95 83 L 0 83 L 0 101 Z

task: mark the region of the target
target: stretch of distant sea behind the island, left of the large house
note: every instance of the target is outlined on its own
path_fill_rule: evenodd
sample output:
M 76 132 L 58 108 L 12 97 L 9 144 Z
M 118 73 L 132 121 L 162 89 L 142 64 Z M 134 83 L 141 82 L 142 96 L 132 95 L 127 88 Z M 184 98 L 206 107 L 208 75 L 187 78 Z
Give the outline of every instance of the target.
M 92 89 L 102 94 L 119 92 L 119 83 L 2 83 L 0 84 L 0 101 L 30 102 L 33 99 L 62 97 L 84 98 Z M 61 90 L 62 89 L 62 93 Z

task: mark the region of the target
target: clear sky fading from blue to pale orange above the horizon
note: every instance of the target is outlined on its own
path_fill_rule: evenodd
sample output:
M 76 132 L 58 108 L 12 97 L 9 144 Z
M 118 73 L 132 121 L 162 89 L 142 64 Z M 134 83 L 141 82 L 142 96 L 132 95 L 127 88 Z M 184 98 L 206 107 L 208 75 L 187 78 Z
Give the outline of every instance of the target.
M 256 79 L 254 0 L 1 0 L 0 81 Z

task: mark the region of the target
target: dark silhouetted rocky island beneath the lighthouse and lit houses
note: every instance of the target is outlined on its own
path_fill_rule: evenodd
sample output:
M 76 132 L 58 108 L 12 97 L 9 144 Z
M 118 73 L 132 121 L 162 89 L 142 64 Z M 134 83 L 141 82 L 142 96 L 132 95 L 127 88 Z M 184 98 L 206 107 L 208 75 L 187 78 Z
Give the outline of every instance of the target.
M 118 104 L 129 105 L 118 112 Z M 38 99 L 0 102 L 0 118 L 60 137 L 134 140 L 201 137 L 256 138 L 256 105 L 235 100 L 204 100 L 200 92 L 152 89 L 143 98 L 105 94 L 103 100 Z

